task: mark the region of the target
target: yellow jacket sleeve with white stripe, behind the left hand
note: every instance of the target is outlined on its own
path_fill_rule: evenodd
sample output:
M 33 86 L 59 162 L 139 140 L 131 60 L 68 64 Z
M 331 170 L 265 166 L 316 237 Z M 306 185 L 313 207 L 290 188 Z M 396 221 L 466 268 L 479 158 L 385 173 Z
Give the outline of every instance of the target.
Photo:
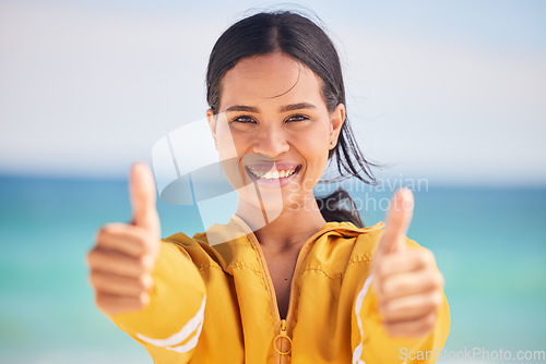
M 188 253 L 163 241 L 152 274 L 150 304 L 110 315 L 156 363 L 188 363 L 203 327 L 205 286 Z

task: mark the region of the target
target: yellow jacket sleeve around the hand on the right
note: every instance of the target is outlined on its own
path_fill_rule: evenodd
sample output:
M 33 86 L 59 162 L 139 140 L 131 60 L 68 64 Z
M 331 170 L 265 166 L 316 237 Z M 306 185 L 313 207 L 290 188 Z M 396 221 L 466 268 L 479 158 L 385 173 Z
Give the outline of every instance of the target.
M 410 239 L 408 242 L 411 247 L 423 248 Z M 372 280 L 373 277 L 369 276 L 359 286 L 353 305 L 353 364 L 436 363 L 441 355 L 451 325 L 446 294 L 442 292 L 443 302 L 430 333 L 423 338 L 393 338 L 381 323 Z

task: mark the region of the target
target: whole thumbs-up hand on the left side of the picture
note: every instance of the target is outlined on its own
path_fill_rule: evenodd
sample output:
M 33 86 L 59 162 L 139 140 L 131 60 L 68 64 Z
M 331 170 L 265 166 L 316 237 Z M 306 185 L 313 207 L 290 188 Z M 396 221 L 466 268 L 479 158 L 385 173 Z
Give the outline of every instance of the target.
M 108 223 L 87 254 L 95 302 L 105 313 L 142 308 L 150 302 L 152 269 L 159 251 L 161 225 L 155 208 L 155 182 L 144 163 L 135 163 L 129 182 L 132 223 Z

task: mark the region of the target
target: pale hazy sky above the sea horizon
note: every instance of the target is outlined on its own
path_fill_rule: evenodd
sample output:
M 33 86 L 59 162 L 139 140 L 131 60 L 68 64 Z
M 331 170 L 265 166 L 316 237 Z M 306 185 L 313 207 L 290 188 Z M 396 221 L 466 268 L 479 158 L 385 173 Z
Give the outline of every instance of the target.
M 299 3 L 339 47 L 361 147 L 392 166 L 380 175 L 546 185 L 544 1 Z M 0 173 L 121 177 L 150 161 L 204 116 L 209 52 L 253 8 L 283 5 L 0 2 Z

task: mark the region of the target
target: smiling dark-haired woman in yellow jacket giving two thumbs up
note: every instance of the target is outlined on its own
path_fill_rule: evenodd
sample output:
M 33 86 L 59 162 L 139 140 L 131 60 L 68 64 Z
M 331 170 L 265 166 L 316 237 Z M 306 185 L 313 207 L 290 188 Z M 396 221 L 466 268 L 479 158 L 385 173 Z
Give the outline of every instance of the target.
M 87 257 L 98 307 L 158 363 L 436 362 L 449 308 L 434 256 L 405 238 L 411 192 L 395 193 L 387 229 L 361 227 L 343 192 L 313 196 L 330 159 L 372 179 L 324 32 L 289 12 L 247 17 L 219 37 L 206 77 L 237 214 L 159 243 L 153 177 L 135 165 L 133 222 L 100 229 Z

